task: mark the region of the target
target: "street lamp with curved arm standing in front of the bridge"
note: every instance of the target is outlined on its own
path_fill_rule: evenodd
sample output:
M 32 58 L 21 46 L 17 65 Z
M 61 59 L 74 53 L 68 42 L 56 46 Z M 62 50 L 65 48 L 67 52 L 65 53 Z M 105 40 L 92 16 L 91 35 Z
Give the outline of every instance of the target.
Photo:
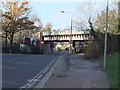
M 72 54 L 72 23 L 73 23 L 73 15 L 71 12 L 66 12 L 66 11 L 61 11 L 61 13 L 68 13 L 71 15 L 71 30 L 70 30 L 70 40 L 69 40 L 69 43 L 70 43 L 70 48 L 69 48 L 69 54 Z

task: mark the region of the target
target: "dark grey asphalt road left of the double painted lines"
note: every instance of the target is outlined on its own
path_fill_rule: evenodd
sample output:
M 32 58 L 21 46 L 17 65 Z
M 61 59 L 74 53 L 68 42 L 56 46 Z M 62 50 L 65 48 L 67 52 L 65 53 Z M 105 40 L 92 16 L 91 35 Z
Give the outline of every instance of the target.
M 20 88 L 58 55 L 2 55 L 2 87 Z

